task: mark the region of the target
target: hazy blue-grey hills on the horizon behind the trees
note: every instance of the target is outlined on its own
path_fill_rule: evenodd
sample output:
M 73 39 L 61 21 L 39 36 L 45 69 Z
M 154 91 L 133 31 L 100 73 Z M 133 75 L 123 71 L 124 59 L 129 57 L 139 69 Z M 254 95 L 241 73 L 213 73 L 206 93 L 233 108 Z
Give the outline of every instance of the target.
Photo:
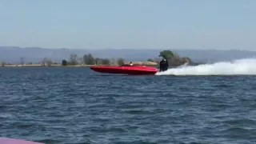
M 182 57 L 189 57 L 194 62 L 218 62 L 230 61 L 238 58 L 256 58 L 256 51 L 246 50 L 173 50 Z M 40 47 L 16 47 L 0 46 L 0 61 L 20 62 L 24 58 L 25 62 L 41 62 L 43 58 L 50 58 L 54 62 L 61 62 L 62 59 L 69 59 L 70 54 L 93 54 L 98 58 L 125 58 L 126 61 L 146 61 L 148 58 L 158 58 L 161 50 L 74 50 L 74 49 L 46 49 Z

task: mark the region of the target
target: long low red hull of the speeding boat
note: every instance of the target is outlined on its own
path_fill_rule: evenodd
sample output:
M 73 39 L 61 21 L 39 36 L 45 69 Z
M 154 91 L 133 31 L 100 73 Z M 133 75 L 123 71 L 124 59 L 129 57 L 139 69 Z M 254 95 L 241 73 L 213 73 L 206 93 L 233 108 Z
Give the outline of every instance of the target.
M 150 66 L 91 66 L 91 70 L 109 74 L 156 74 L 158 69 Z

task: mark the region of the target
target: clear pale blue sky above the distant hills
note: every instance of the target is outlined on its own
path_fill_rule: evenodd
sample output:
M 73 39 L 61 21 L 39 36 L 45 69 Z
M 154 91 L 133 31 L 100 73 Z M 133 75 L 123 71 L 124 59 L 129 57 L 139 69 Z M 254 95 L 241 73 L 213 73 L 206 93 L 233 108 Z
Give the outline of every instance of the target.
M 0 46 L 256 50 L 255 0 L 0 0 Z

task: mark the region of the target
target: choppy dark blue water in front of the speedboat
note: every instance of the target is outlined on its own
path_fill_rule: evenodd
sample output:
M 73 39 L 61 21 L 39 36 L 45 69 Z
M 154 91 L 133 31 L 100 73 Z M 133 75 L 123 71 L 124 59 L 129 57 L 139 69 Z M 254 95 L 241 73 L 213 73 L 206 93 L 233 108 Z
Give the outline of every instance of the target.
M 47 144 L 256 143 L 256 76 L 0 68 L 0 137 Z

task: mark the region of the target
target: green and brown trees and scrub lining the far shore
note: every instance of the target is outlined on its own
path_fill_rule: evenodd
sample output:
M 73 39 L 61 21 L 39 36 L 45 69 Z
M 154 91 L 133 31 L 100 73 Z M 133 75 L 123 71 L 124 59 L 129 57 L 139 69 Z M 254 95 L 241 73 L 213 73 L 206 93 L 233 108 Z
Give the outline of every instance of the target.
M 163 50 L 159 53 L 158 56 L 162 58 L 166 58 L 169 62 L 170 66 L 180 66 L 186 62 L 192 63 L 190 58 L 182 58 L 178 54 L 174 54 L 171 50 Z M 156 62 L 157 64 L 160 62 L 161 58 L 149 58 L 147 62 Z M 25 63 L 25 58 L 20 58 L 19 65 L 32 65 L 32 62 Z M 52 62 L 50 58 L 43 58 L 42 62 L 38 62 L 41 66 L 52 66 L 58 65 L 58 62 Z M 85 54 L 83 57 L 78 57 L 78 54 L 70 54 L 69 60 L 63 59 L 61 62 L 62 66 L 76 66 L 76 65 L 123 65 L 125 64 L 124 58 L 94 58 L 92 54 Z M 1 66 L 11 65 L 10 63 L 6 63 L 5 61 L 1 62 Z M 15 65 L 15 64 L 14 64 Z M 18 64 L 16 64 L 18 65 Z

